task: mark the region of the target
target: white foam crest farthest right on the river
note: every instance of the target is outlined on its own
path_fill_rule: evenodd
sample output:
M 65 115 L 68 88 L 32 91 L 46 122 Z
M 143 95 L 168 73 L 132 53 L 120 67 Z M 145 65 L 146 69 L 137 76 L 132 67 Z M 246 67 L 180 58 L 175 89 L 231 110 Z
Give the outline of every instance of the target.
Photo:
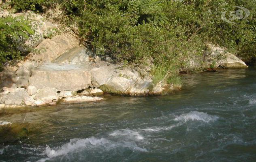
M 182 114 L 180 116 L 175 117 L 175 121 L 183 121 L 188 122 L 190 120 L 194 121 L 202 121 L 202 122 L 211 122 L 217 120 L 219 117 L 215 115 L 208 115 L 207 113 L 191 111 L 190 113 Z

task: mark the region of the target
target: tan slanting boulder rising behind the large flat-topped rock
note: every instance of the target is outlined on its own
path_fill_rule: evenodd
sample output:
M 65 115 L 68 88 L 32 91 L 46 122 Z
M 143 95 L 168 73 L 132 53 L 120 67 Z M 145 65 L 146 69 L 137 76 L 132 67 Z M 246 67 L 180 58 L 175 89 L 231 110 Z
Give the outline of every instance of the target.
M 27 59 L 38 63 L 46 61 L 51 62 L 63 53 L 77 47 L 78 44 L 79 40 L 77 40 L 73 34 L 62 33 L 54 36 L 52 39 L 44 39 L 43 42 L 36 47 L 37 51 L 41 51 L 40 54 L 30 53 Z

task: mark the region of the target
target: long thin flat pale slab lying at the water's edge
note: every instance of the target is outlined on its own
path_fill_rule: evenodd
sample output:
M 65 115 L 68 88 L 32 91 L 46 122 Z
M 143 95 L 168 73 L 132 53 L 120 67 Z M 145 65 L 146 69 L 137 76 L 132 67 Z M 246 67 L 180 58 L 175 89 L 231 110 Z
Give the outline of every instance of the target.
M 81 103 L 81 102 L 100 101 L 103 99 L 104 98 L 99 98 L 99 97 L 75 96 L 75 97 L 64 98 L 63 103 L 73 104 L 73 103 Z

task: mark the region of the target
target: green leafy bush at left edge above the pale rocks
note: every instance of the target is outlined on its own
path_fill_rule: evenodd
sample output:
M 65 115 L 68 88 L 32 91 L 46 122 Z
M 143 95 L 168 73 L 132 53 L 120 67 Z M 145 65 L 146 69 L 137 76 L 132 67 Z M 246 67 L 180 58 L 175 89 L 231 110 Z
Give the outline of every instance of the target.
M 23 54 L 19 47 L 26 49 L 25 40 L 34 34 L 30 23 L 23 17 L 0 19 L 0 67 L 6 62 L 15 62 Z

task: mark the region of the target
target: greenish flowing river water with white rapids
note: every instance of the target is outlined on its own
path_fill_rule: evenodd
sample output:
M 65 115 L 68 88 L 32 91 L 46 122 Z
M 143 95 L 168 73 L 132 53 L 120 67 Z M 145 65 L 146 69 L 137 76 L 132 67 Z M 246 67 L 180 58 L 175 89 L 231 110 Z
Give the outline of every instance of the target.
M 180 92 L 4 115 L 30 136 L 0 162 L 255 162 L 256 68 L 184 76 Z

